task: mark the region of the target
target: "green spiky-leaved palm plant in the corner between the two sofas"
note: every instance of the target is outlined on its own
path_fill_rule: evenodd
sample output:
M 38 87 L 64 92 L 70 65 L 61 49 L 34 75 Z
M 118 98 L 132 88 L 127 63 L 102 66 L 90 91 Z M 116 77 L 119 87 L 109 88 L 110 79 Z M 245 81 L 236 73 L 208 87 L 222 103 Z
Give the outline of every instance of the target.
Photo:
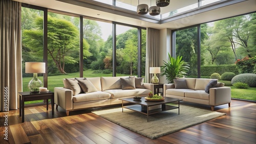
M 163 61 L 164 65 L 161 66 L 161 77 L 166 76 L 168 83 L 174 83 L 176 77 L 185 77 L 189 71 L 189 64 L 182 60 L 182 56 L 176 58 L 171 57 L 168 53 L 169 60 Z

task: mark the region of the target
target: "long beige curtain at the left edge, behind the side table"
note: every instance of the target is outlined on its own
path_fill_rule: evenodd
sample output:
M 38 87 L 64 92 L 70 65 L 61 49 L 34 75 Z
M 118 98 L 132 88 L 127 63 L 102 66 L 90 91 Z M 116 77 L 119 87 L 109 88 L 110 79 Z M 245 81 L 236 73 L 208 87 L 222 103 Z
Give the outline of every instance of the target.
M 22 91 L 21 3 L 0 1 L 1 111 L 18 108 Z

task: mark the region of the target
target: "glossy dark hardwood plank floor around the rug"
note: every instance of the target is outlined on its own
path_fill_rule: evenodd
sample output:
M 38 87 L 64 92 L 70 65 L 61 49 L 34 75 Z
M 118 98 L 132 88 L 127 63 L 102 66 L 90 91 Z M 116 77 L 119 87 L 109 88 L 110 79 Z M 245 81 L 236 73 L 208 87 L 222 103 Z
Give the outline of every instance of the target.
M 205 105 L 181 104 L 210 110 Z M 19 110 L 0 112 L 0 143 L 256 143 L 253 102 L 232 100 L 230 108 L 227 104 L 216 107 L 216 111 L 227 115 L 157 139 L 146 138 L 91 113 L 96 109 L 104 107 L 72 111 L 70 116 L 59 107 L 52 116 L 50 105 L 49 111 L 46 106 L 29 107 L 25 108 L 25 123 L 21 123 Z M 9 125 L 8 140 L 4 139 L 5 121 Z

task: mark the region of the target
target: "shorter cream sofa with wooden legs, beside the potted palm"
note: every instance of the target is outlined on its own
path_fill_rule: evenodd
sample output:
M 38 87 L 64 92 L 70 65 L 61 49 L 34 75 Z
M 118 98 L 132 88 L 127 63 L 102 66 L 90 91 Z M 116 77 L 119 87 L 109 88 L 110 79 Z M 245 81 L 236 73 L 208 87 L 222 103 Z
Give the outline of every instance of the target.
M 175 88 L 175 84 L 164 84 L 164 97 L 178 98 L 186 102 L 209 105 L 212 111 L 214 111 L 215 106 L 223 104 L 228 104 L 230 107 L 231 88 L 224 86 L 224 83 L 218 82 L 212 88 L 209 88 L 209 93 L 207 93 L 205 88 L 212 79 L 177 79 L 185 80 L 187 88 Z

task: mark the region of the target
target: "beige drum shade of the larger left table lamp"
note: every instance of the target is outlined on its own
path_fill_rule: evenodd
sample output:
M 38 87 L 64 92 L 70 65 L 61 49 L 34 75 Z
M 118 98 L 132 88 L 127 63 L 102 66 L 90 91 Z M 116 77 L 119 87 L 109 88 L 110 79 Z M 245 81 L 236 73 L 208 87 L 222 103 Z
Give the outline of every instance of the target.
M 46 63 L 25 62 L 25 73 L 46 73 Z

